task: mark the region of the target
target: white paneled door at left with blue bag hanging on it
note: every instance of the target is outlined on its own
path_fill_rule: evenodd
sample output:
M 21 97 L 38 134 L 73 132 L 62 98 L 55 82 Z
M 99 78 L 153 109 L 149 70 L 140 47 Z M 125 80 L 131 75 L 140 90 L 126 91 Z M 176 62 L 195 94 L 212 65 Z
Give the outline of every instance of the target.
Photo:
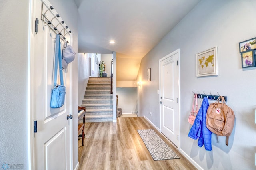
M 69 170 L 72 169 L 72 119 L 67 120 L 67 115 L 72 114 L 72 69 L 63 72 L 66 86 L 64 105 L 51 108 L 56 34 L 41 21 L 41 5 L 41 0 L 34 0 L 32 5 L 32 22 L 36 18 L 39 20 L 38 33 L 35 34 L 32 29 L 31 40 L 31 110 L 33 121 L 37 121 L 33 148 L 34 169 Z M 70 36 L 66 38 L 72 40 Z M 63 44 L 61 41 L 62 47 Z M 60 84 L 59 74 L 57 79 L 57 84 Z

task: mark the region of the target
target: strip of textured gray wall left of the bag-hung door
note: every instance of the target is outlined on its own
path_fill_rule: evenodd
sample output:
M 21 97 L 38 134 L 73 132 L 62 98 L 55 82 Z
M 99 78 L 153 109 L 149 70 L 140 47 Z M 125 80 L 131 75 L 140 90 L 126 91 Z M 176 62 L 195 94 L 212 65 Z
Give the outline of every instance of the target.
M 0 167 L 28 169 L 28 1 L 0 2 Z

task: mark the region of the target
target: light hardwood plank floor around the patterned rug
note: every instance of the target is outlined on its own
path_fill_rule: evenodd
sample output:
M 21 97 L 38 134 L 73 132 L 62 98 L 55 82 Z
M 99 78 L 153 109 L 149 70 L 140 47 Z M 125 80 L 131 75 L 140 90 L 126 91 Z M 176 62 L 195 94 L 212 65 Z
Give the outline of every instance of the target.
M 154 131 L 180 159 L 154 161 L 138 129 Z M 78 140 L 79 170 L 196 170 L 169 140 L 143 117 L 85 123 L 84 146 Z

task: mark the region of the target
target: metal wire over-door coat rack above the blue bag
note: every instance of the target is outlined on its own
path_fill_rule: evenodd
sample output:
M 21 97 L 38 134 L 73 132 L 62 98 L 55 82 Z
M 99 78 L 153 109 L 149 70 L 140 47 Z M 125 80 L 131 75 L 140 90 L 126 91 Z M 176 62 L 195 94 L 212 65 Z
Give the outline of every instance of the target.
M 43 1 L 41 6 L 41 20 L 46 24 L 55 34 L 60 35 L 60 39 L 64 42 L 66 40 L 66 35 L 71 36 L 71 30 L 64 24 L 64 21 L 60 18 L 59 14 L 53 10 L 52 6 L 48 7 Z

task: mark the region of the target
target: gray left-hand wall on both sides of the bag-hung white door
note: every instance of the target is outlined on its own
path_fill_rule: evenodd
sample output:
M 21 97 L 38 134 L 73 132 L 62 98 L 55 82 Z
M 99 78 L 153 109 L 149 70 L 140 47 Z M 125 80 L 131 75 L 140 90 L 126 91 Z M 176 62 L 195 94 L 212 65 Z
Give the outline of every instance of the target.
M 72 0 L 50 0 L 61 18 L 73 32 L 73 48 L 77 51 L 77 7 Z M 29 0 L 2 0 L 0 2 L 0 166 L 2 164 L 30 164 L 30 132 L 28 108 L 28 50 Z M 72 12 L 70 12 L 72 11 Z M 32 21 L 34 22 L 34 21 Z M 41 23 L 42 24 L 42 23 Z M 31 28 L 34 29 L 34 28 Z M 73 104 L 77 105 L 77 61 L 73 61 Z M 77 108 L 73 108 L 77 112 Z M 78 163 L 77 125 L 73 141 L 73 166 Z

